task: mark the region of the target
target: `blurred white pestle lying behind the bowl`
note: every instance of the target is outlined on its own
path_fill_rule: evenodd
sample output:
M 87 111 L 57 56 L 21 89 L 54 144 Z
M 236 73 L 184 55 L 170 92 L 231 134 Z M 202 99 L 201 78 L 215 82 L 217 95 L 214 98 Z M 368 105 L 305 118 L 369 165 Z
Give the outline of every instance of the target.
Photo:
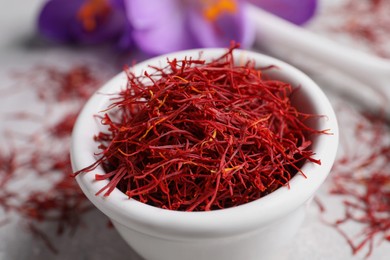
M 257 47 L 291 63 L 307 58 L 371 87 L 381 99 L 372 103 L 377 106 L 374 110 L 390 101 L 389 60 L 340 45 L 253 5 L 248 5 L 247 13 L 255 27 Z

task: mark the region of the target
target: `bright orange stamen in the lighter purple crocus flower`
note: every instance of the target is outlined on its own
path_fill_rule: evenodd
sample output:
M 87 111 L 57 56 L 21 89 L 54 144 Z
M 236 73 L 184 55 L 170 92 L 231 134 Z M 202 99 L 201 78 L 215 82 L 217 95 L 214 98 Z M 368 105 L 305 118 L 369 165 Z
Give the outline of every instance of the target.
M 235 12 L 237 12 L 236 0 L 206 0 L 203 15 L 208 21 L 214 22 L 224 13 Z

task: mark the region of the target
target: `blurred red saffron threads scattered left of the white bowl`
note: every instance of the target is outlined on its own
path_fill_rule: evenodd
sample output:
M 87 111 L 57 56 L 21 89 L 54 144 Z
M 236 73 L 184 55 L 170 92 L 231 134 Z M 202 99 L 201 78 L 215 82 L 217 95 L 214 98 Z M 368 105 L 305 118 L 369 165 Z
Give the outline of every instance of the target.
M 72 235 L 83 215 L 93 209 L 72 177 L 69 143 L 73 124 L 87 98 L 112 75 L 102 73 L 101 65 L 93 63 L 69 68 L 39 65 L 10 75 L 16 87 L 4 93 L 33 92 L 45 114 L 23 109 L 1 115 L 6 125 L 33 124 L 35 130 L 2 129 L 8 142 L 0 147 L 0 210 L 4 212 L 0 228 L 16 214 L 27 231 L 58 253 L 45 224 L 54 225 L 57 236 Z M 30 178 L 35 181 L 26 181 Z M 24 182 L 23 192 L 14 189 L 20 182 Z M 46 188 L 36 189 L 39 182 Z

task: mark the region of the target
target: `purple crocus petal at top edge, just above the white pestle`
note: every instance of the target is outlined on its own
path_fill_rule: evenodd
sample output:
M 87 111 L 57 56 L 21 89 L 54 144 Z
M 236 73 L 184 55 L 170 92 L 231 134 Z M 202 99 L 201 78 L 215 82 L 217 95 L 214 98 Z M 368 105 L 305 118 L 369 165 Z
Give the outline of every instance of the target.
M 298 25 L 307 22 L 317 9 L 316 0 L 249 0 L 248 2 Z

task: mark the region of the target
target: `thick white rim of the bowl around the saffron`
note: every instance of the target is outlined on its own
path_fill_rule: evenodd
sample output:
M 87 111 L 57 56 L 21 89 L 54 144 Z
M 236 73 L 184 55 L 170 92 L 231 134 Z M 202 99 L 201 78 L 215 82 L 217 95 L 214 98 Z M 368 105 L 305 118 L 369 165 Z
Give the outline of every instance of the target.
M 148 65 L 166 64 L 167 58 L 198 57 L 199 53 L 202 53 L 202 58 L 217 58 L 226 53 L 226 49 L 193 49 L 169 53 L 138 63 L 132 67 L 132 71 L 139 75 Z M 85 195 L 109 218 L 153 236 L 171 238 L 233 236 L 277 221 L 303 205 L 320 187 L 330 172 L 338 146 L 336 115 L 328 98 L 307 75 L 279 59 L 249 50 L 235 49 L 233 53 L 236 58 L 240 56 L 244 60 L 252 59 L 260 66 L 275 65 L 280 68 L 276 73 L 299 82 L 302 89 L 300 91 L 308 94 L 316 113 L 325 115 L 324 120 L 321 120 L 321 129 L 330 129 L 332 134 L 320 135 L 313 148 L 315 157 L 321 159 L 321 165 L 305 163 L 302 170 L 307 178 L 297 174 L 290 180 L 289 187 L 281 187 L 258 200 L 237 207 L 207 212 L 183 212 L 153 207 L 135 199 L 128 199 L 118 189 L 114 189 L 108 197 L 96 196 L 95 193 L 107 184 L 106 180 L 95 181 L 95 172 L 99 168 L 79 174 L 76 180 Z M 110 98 L 109 95 L 102 95 L 102 93 L 119 91 L 126 82 L 124 72 L 119 73 L 96 91 L 80 112 L 71 139 L 73 171 L 78 171 L 96 161 L 93 155 L 93 151 L 96 151 L 96 143 L 92 138 L 96 132 L 91 130 L 91 126 L 96 125 L 94 115 L 99 112 L 97 108 L 103 108 Z

